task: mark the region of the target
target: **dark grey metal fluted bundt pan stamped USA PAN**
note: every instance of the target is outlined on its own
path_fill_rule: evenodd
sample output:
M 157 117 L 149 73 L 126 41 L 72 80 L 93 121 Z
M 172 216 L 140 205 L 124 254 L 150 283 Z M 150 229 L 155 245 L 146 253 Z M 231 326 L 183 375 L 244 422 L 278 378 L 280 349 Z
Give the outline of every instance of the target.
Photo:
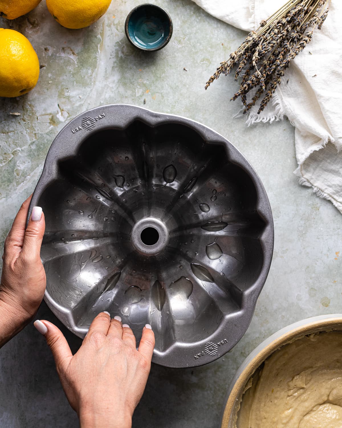
M 221 135 L 179 116 L 106 105 L 53 141 L 33 193 L 43 207 L 45 301 L 83 338 L 101 311 L 153 362 L 200 366 L 251 321 L 271 264 L 271 208 L 256 172 Z

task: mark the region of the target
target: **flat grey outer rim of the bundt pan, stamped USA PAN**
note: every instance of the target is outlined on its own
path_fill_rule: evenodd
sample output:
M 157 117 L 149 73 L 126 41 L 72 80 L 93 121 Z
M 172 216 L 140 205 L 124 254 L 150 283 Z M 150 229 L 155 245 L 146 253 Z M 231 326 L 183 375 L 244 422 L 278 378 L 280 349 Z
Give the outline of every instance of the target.
M 96 122 L 91 131 L 81 127 L 84 116 L 93 117 Z M 53 140 L 44 163 L 41 177 L 32 196 L 29 205 L 28 217 L 32 212 L 33 206 L 37 205 L 41 194 L 58 177 L 58 163 L 63 158 L 74 156 L 85 138 L 95 134 L 100 130 L 115 128 L 124 129 L 135 120 L 140 120 L 145 124 L 155 127 L 163 123 L 177 123 L 194 129 L 208 144 L 221 144 L 226 148 L 227 158 L 231 162 L 244 169 L 251 177 L 257 190 L 256 210 L 265 222 L 265 228 L 260 235 L 260 244 L 264 255 L 261 272 L 254 284 L 245 292 L 242 300 L 241 309 L 232 314 L 226 315 L 219 325 L 218 329 L 206 339 L 195 343 L 175 342 L 165 351 L 155 350 L 153 353 L 153 362 L 168 367 L 195 367 L 210 363 L 226 354 L 245 334 L 254 313 L 257 298 L 265 284 L 268 271 L 271 266 L 273 245 L 274 245 L 274 226 L 271 206 L 268 197 L 259 176 L 248 160 L 224 137 L 210 128 L 181 116 L 174 116 L 165 113 L 155 113 L 142 107 L 136 107 L 128 104 L 109 104 L 95 107 L 91 110 L 81 113 L 71 120 L 59 132 Z M 78 131 L 76 131 L 78 129 Z M 44 207 L 43 207 L 44 210 Z M 77 336 L 83 338 L 86 330 L 77 327 L 71 316 L 71 312 L 58 305 L 45 291 L 44 300 L 52 312 Z M 221 341 L 223 343 L 221 343 Z M 207 342 L 214 342 L 218 345 L 218 353 L 209 356 L 203 352 Z M 200 357 L 195 357 L 197 355 Z

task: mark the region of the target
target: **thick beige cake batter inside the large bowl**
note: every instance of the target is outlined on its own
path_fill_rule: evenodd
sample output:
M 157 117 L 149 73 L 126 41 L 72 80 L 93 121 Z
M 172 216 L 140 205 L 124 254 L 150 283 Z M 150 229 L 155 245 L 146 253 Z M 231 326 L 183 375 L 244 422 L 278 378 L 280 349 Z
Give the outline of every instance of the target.
M 247 388 L 238 428 L 342 428 L 342 332 L 284 345 Z

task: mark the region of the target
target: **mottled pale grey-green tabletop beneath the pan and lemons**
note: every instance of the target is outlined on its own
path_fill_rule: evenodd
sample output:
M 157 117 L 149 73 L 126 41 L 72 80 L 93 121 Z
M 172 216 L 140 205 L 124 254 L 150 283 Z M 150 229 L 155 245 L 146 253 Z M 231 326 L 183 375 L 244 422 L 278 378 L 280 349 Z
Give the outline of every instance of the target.
M 342 250 L 341 214 L 298 185 L 292 173 L 294 129 L 287 120 L 247 128 L 243 118 L 233 119 L 240 106 L 229 102 L 237 88 L 231 77 L 204 91 L 207 78 L 240 44 L 243 32 L 190 0 L 156 3 L 174 23 L 171 42 L 156 53 L 137 51 L 124 35 L 126 15 L 137 1 L 113 0 L 106 15 L 83 30 L 60 27 L 43 2 L 10 23 L 29 38 L 46 66 L 31 93 L 0 98 L 0 241 L 2 246 L 21 202 L 34 189 L 53 138 L 88 108 L 127 103 L 179 114 L 235 144 L 260 175 L 274 214 L 274 258 L 254 318 L 233 351 L 208 366 L 153 366 L 133 419 L 134 427 L 211 428 L 219 425 L 230 379 L 256 345 L 299 319 L 342 312 L 342 253 L 336 255 Z M 0 18 L 0 25 L 9 22 Z M 44 303 L 37 318 L 57 322 Z M 77 349 L 79 339 L 63 331 Z M 77 417 L 44 339 L 31 324 L 0 351 L 0 427 L 48 426 L 77 426 Z

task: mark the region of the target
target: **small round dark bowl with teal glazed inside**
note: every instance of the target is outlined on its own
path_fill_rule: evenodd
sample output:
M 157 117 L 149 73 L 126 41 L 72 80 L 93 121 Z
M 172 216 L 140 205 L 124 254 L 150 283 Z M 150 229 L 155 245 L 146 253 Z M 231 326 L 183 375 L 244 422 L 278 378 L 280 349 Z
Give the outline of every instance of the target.
M 129 42 L 142 51 L 159 51 L 172 36 L 172 21 L 166 10 L 154 4 L 141 4 L 130 11 L 125 22 Z

